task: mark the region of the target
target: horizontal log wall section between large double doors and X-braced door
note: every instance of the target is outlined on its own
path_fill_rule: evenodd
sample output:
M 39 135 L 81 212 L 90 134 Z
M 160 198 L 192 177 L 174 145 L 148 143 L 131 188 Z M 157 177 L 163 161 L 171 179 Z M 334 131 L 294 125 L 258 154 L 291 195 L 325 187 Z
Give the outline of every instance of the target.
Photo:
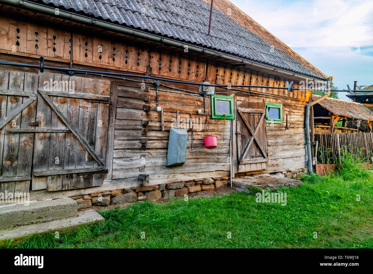
M 119 86 L 112 179 L 137 177 L 145 173 L 150 175 L 150 184 L 160 184 L 228 176 L 231 122 L 226 120 L 223 125 L 222 119 L 210 119 L 210 98 L 205 99 L 204 107 L 200 95 L 158 88 L 158 106 L 163 107 L 163 131 L 161 112 L 156 111 L 154 88 L 147 91 L 140 87 Z M 148 111 L 144 110 L 144 105 L 149 106 Z M 201 109 L 201 114 L 197 114 L 198 109 Z M 177 112 L 179 128 L 188 130 L 186 162 L 180 167 L 166 167 L 169 130 L 177 125 Z M 209 132 L 206 130 L 206 119 Z M 203 137 L 215 133 L 218 148 L 204 148 Z

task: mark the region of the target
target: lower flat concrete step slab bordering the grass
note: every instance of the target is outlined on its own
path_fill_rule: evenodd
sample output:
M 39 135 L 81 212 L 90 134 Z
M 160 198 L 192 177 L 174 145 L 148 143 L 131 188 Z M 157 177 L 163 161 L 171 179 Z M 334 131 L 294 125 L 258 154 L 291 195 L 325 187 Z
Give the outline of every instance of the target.
M 81 226 L 94 221 L 104 220 L 100 214 L 94 210 L 79 211 L 78 216 L 64 218 L 61 220 L 49 221 L 46 223 L 29 224 L 27 226 L 12 227 L 0 230 L 0 246 L 7 240 L 14 239 L 13 243 L 26 240 L 24 237 L 34 233 L 44 233 L 48 231 L 64 232 L 66 229 Z

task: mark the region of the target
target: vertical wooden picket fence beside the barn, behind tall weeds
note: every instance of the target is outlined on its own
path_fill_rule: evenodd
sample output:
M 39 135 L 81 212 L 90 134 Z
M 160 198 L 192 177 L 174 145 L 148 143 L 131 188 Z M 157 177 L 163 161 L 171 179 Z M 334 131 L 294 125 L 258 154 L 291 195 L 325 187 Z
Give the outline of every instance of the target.
M 363 162 L 370 162 L 373 157 L 373 133 L 352 134 L 315 134 L 317 142 L 317 163 L 340 163 L 343 154 L 348 152 Z

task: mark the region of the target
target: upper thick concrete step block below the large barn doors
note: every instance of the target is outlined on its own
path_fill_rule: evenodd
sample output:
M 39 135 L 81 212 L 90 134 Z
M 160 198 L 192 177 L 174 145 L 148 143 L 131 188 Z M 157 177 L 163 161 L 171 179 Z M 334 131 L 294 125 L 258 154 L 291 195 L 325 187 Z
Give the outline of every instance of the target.
M 75 217 L 77 214 L 76 201 L 70 198 L 3 205 L 0 207 L 0 230 Z

